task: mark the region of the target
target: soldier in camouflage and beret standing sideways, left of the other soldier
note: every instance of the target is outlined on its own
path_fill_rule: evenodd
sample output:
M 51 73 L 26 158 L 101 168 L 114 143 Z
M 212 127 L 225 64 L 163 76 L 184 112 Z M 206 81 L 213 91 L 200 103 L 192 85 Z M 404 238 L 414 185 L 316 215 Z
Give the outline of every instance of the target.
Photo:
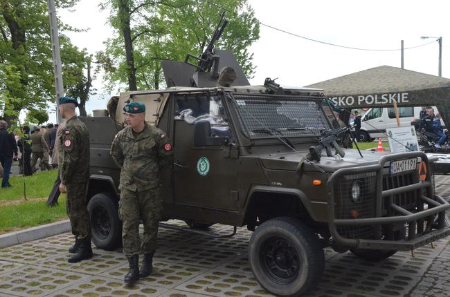
M 75 253 L 69 262 L 92 258 L 91 224 L 87 212 L 87 182 L 89 181 L 89 132 L 78 119 L 75 107 L 78 102 L 71 97 L 60 98 L 60 113 L 66 124 L 58 144 L 60 191 L 67 193 L 66 209 L 71 221 L 75 245 L 69 249 Z

